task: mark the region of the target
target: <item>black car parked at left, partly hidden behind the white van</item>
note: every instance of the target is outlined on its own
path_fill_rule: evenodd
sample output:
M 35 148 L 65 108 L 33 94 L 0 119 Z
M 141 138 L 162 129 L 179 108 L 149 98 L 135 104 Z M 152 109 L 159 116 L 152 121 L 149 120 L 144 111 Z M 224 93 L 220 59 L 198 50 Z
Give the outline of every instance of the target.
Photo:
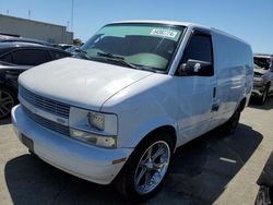
M 17 77 L 22 72 L 70 56 L 69 52 L 39 44 L 0 43 L 0 119 L 8 117 L 17 102 Z

